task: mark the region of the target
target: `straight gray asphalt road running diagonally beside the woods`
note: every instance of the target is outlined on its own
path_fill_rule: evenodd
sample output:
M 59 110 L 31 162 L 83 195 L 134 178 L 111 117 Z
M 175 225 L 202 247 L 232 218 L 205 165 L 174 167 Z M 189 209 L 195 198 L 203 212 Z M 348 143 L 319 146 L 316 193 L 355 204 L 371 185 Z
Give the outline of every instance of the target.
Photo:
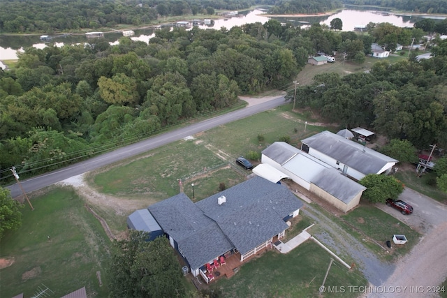
M 143 152 L 161 147 L 165 144 L 181 140 L 189 135 L 207 131 L 210 128 L 243 119 L 253 114 L 264 112 L 266 110 L 270 110 L 274 107 L 278 107 L 279 105 L 284 105 L 285 103 L 286 101 L 284 99 L 284 96 L 279 96 L 277 98 L 273 98 L 272 100 L 257 103 L 256 105 L 249 105 L 241 110 L 229 112 L 228 114 L 223 114 L 221 116 L 207 119 L 196 124 L 191 124 L 190 126 L 178 128 L 175 131 L 156 135 L 155 137 L 150 137 L 147 140 L 142 140 L 135 144 L 131 144 L 129 146 L 122 147 L 105 154 L 101 154 L 100 156 L 90 158 L 87 161 L 82 161 L 80 163 L 76 163 L 59 170 L 54 170 L 53 172 L 48 172 L 46 174 L 42 174 L 40 176 L 33 177 L 27 180 L 20 180 L 20 184 L 22 184 L 22 188 L 26 193 L 37 191 L 41 188 L 45 188 L 46 186 L 50 186 L 70 177 L 83 174 L 85 172 L 95 170 L 99 167 L 103 167 L 105 165 L 121 161 L 125 158 L 129 158 L 131 156 L 135 156 Z M 13 198 L 22 195 L 22 191 L 20 190 L 20 187 L 17 185 L 17 183 L 11 186 L 7 186 L 6 188 L 10 189 Z

